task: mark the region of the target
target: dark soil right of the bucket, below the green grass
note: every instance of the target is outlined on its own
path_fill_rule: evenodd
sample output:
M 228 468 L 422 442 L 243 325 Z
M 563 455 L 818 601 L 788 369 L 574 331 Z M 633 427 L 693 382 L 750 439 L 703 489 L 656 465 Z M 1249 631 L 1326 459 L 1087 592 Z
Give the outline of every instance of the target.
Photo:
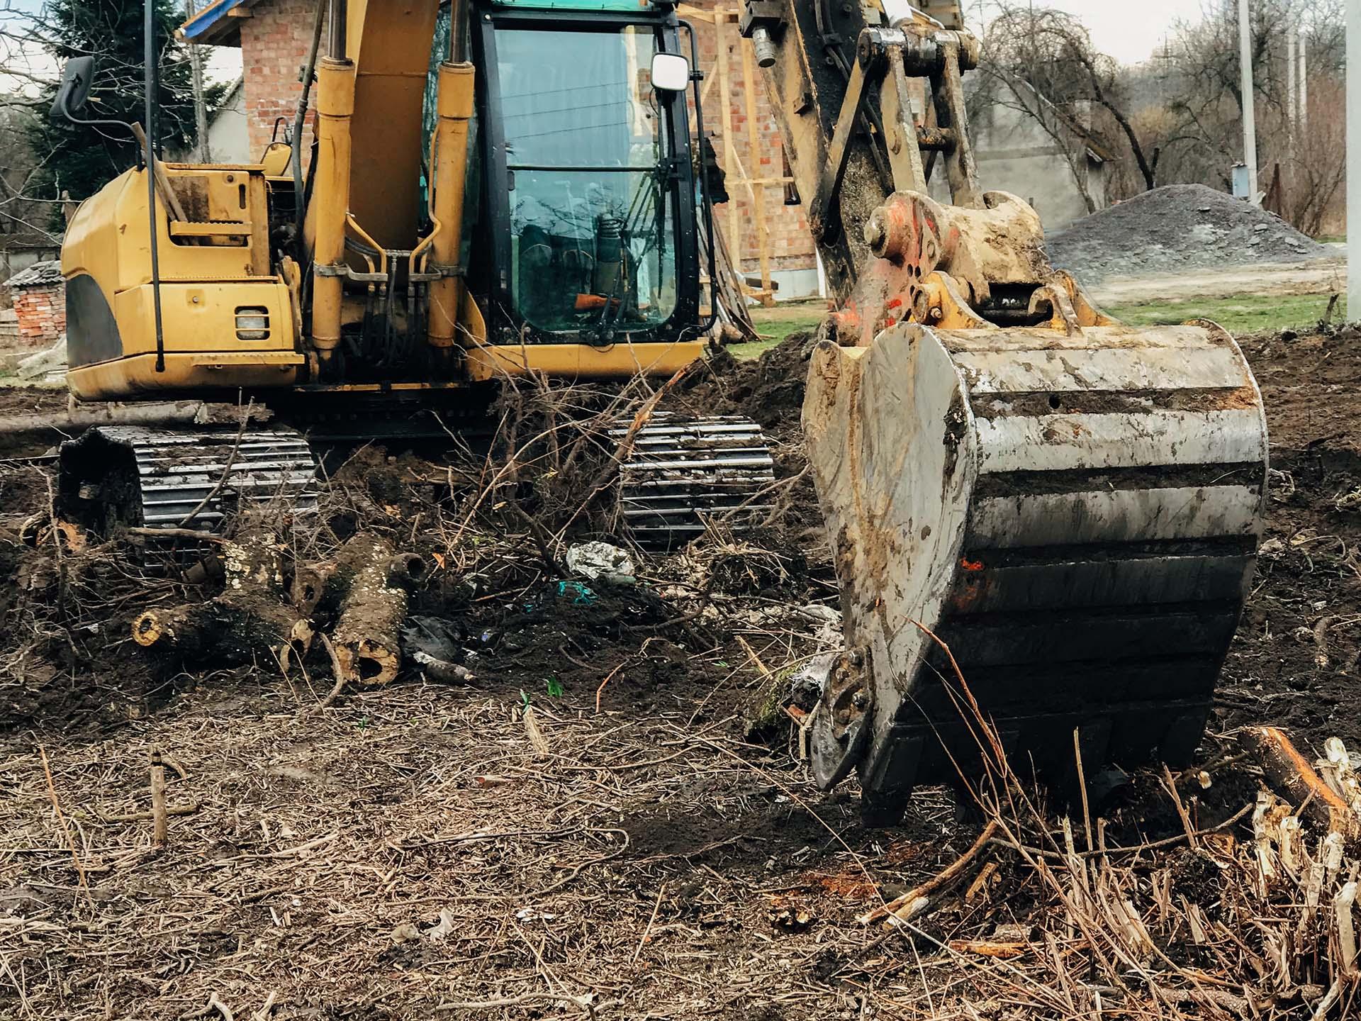
M 1361 743 L 1361 334 L 1241 339 L 1271 437 L 1258 577 L 1219 682 L 1218 724 L 1275 723 L 1317 750 Z

